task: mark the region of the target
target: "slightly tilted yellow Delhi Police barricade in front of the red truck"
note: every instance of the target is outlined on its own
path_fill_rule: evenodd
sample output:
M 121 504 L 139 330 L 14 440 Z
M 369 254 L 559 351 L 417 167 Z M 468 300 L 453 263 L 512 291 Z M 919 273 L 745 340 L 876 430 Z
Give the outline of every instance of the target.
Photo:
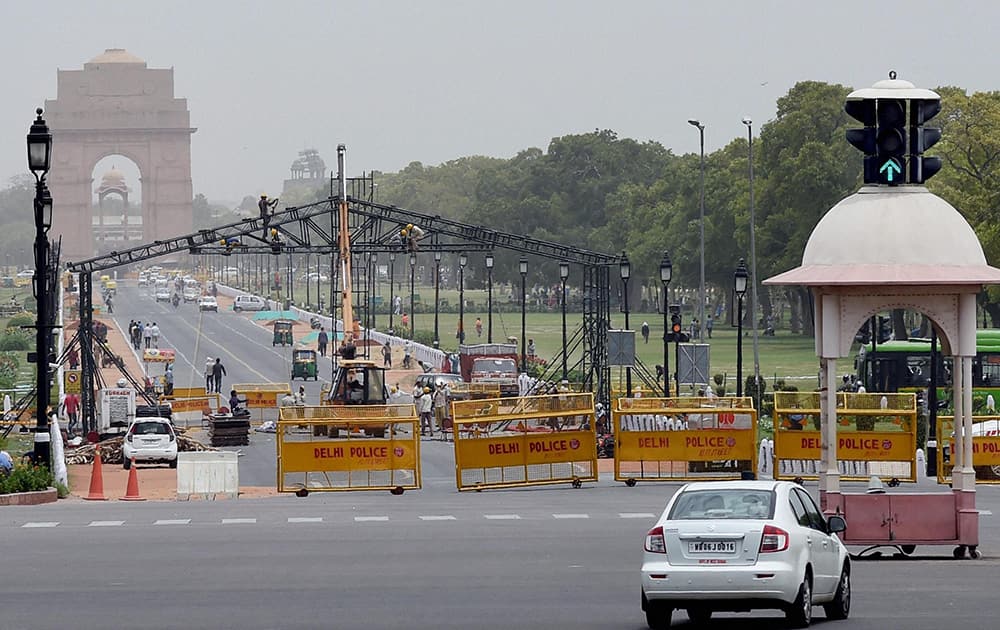
M 597 481 L 593 394 L 451 404 L 459 490 Z

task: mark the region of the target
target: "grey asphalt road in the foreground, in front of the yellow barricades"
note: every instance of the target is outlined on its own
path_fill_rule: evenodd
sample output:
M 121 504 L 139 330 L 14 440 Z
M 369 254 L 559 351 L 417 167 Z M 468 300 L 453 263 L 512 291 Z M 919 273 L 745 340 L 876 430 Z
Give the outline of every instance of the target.
M 4 508 L 0 627 L 638 630 L 642 538 L 676 487 Z M 1000 532 L 983 520 L 980 560 L 857 561 L 851 618 L 817 609 L 815 627 L 996 627 Z

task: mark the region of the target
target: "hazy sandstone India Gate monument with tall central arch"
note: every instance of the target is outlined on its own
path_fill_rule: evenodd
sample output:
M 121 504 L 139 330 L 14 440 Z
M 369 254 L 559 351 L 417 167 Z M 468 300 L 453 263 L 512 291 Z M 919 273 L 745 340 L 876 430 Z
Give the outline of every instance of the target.
M 139 169 L 142 240 L 192 230 L 191 127 L 187 99 L 174 97 L 172 68 L 147 68 L 112 48 L 83 65 L 59 70 L 54 100 L 45 101 L 52 130 L 52 232 L 62 257 L 88 258 L 114 247 L 95 240 L 93 171 L 102 158 L 121 155 Z

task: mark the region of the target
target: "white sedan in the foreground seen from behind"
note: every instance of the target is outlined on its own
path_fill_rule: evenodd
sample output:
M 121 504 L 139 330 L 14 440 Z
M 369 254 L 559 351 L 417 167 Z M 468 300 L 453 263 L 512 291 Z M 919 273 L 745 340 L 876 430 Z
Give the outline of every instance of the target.
M 650 628 L 670 627 L 683 608 L 696 624 L 714 611 L 777 608 L 792 627 L 851 610 L 851 563 L 835 535 L 841 516 L 824 517 L 790 481 L 710 481 L 677 491 L 646 534 L 642 609 Z

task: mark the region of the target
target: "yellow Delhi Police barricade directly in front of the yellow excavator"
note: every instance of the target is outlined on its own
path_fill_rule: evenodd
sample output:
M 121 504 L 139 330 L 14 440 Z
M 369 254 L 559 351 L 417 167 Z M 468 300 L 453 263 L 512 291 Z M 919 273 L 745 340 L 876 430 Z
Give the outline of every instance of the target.
M 413 405 L 282 407 L 276 437 L 278 492 L 421 487 Z

